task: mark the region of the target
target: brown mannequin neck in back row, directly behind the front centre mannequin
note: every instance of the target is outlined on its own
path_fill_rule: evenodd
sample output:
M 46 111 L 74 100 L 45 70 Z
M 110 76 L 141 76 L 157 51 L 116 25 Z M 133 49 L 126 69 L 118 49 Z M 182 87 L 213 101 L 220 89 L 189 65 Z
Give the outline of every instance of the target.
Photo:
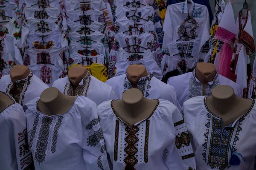
M 129 65 L 127 70 L 127 78 L 131 82 L 133 88 L 137 88 L 138 81 L 142 77 L 146 77 L 148 75 L 147 69 L 144 65 Z

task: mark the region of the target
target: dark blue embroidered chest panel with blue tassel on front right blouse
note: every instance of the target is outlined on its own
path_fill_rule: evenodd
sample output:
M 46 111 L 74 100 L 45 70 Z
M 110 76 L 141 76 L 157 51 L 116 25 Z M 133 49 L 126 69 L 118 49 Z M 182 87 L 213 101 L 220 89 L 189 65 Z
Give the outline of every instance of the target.
M 255 101 L 253 101 L 254 105 Z M 204 100 L 204 105 L 206 102 Z M 204 151 L 202 153 L 204 161 L 212 169 L 224 170 L 233 166 L 232 157 L 236 156 L 240 161 L 244 161 L 241 152 L 236 149 L 236 142 L 239 141 L 239 133 L 242 131 L 242 122 L 245 120 L 245 116 L 251 111 L 253 105 L 232 127 L 233 123 L 221 128 L 221 120 L 212 116 L 212 112 L 207 108 L 207 123 L 206 132 L 204 133 L 205 142 L 203 143 Z M 212 113 L 212 114 L 210 114 Z M 239 161 L 239 162 L 240 162 Z M 240 163 L 239 163 L 240 164 Z M 236 165 L 239 165 L 236 164 Z

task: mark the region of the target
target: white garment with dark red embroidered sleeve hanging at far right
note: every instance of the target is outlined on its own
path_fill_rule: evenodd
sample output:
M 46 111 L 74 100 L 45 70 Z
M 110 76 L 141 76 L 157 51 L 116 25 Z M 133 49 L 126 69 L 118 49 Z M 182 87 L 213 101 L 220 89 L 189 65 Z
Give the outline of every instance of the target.
M 255 52 L 253 28 L 249 9 L 247 10 L 246 17 L 244 18 L 241 15 L 241 11 L 239 12 L 236 20 L 236 26 L 239 31 L 236 34 L 234 53 L 230 64 L 230 79 L 243 88 L 243 97 L 247 98 L 247 79 L 250 78 L 251 74 L 249 54 L 250 51 L 252 53 Z

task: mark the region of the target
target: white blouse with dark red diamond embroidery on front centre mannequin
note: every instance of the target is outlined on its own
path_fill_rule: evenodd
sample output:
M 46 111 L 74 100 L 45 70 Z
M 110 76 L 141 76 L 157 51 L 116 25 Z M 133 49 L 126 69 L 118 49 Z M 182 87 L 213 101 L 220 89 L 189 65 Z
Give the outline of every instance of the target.
M 137 170 L 196 168 L 186 126 L 171 102 L 157 99 L 154 111 L 132 128 L 118 117 L 113 101 L 103 102 L 97 111 L 113 169 L 122 170 L 126 166 Z

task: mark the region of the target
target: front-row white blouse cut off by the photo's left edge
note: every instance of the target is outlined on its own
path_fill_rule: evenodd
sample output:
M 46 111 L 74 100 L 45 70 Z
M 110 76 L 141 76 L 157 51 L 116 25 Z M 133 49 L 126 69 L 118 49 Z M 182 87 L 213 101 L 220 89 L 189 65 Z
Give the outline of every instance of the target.
M 26 140 L 26 116 L 23 107 L 9 97 L 13 104 L 0 112 L 0 134 L 3 136 L 0 139 L 0 167 L 2 170 L 33 169 L 32 154 Z

